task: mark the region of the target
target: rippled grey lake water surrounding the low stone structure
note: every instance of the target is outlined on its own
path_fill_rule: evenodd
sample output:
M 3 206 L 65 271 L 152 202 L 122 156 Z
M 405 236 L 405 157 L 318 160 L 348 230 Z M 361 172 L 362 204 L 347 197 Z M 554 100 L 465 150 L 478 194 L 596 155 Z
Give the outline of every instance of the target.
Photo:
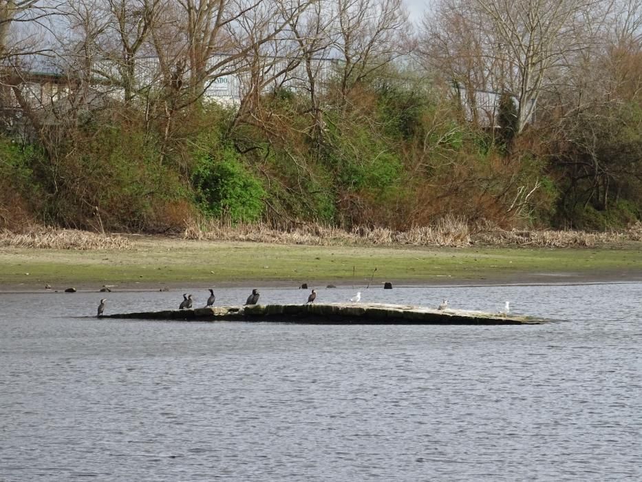
M 0 481 L 642 480 L 641 283 L 361 292 L 564 321 L 98 320 L 103 293 L 0 294 Z M 181 293 L 107 293 L 106 312 Z

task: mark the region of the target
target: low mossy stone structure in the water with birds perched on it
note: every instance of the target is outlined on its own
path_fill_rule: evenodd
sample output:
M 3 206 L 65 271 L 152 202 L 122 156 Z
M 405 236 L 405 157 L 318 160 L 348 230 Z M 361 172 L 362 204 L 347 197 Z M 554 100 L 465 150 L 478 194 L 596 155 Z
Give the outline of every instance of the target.
M 484 313 L 383 303 L 255 304 L 189 310 L 142 311 L 103 318 L 194 322 L 279 322 L 299 324 L 542 324 L 548 320 L 522 315 Z

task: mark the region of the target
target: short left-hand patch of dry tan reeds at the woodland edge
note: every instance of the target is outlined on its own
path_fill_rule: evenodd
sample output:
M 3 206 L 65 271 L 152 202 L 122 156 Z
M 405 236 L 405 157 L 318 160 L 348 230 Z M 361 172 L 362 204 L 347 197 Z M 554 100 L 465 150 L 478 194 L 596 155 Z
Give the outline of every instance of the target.
M 131 249 L 132 243 L 118 235 L 105 235 L 79 231 L 78 229 L 56 229 L 33 227 L 24 233 L 13 233 L 8 229 L 0 231 L 0 247 L 36 249 Z

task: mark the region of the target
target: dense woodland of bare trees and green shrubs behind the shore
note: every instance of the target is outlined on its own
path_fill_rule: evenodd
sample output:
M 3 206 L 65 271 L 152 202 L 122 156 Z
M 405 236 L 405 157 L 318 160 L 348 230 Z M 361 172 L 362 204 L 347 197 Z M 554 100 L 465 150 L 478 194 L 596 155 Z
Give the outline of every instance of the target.
M 0 228 L 445 216 L 642 217 L 642 0 L 0 0 Z

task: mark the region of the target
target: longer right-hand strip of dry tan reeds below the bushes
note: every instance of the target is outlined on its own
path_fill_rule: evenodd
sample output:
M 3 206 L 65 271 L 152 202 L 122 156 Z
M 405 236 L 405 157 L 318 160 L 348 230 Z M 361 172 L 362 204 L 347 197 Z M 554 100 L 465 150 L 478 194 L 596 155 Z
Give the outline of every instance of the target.
M 183 238 L 189 240 L 253 241 L 312 246 L 491 246 L 591 247 L 641 241 L 642 223 L 626 231 L 589 233 L 586 231 L 507 231 L 487 222 L 469 223 L 464 218 L 447 216 L 429 226 L 407 231 L 387 228 L 355 227 L 350 231 L 319 224 L 296 224 L 276 229 L 267 224 L 237 224 L 211 220 L 189 220 Z

